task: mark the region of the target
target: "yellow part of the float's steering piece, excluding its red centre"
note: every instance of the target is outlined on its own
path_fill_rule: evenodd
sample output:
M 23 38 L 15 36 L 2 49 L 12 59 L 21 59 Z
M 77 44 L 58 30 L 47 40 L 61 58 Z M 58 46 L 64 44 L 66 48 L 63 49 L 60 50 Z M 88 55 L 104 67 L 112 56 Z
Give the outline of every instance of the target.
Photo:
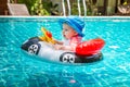
M 50 42 L 50 44 L 55 44 L 54 39 L 52 37 L 49 37 L 47 35 L 47 29 L 41 27 L 41 32 L 43 33 L 43 36 L 40 36 L 39 38 L 42 40 L 42 41 L 46 41 L 46 42 Z

